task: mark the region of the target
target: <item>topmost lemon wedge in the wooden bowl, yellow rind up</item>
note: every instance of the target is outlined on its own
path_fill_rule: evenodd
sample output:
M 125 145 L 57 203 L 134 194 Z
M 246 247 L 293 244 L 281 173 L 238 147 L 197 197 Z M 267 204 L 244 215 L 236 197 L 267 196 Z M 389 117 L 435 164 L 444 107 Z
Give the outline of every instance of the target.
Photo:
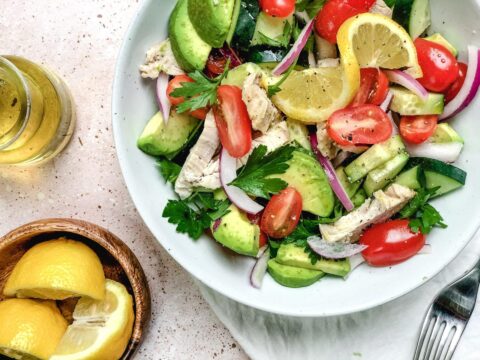
M 102 300 L 105 275 L 92 249 L 60 238 L 28 250 L 14 267 L 3 292 L 19 298 L 64 300 L 87 296 Z

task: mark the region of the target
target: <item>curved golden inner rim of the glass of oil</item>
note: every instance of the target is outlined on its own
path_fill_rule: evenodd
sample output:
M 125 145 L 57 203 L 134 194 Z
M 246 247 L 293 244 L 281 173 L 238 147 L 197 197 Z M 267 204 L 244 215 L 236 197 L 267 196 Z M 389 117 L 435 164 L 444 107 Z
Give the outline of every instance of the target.
M 18 89 L 18 96 L 20 98 L 19 102 L 22 109 L 17 119 L 17 124 L 19 124 L 19 126 L 16 127 L 16 134 L 14 134 L 12 138 L 5 144 L 0 144 L 0 150 L 3 150 L 8 148 L 16 140 L 18 140 L 20 135 L 25 130 L 25 127 L 28 124 L 28 120 L 30 119 L 30 112 L 32 110 L 32 96 L 27 80 L 25 79 L 25 76 L 22 74 L 20 69 L 18 69 L 10 60 L 8 60 L 5 56 L 2 55 L 0 55 L 0 65 L 3 65 L 4 70 L 6 70 L 8 74 L 10 76 L 13 76 L 17 81 L 17 88 L 20 87 L 20 89 Z

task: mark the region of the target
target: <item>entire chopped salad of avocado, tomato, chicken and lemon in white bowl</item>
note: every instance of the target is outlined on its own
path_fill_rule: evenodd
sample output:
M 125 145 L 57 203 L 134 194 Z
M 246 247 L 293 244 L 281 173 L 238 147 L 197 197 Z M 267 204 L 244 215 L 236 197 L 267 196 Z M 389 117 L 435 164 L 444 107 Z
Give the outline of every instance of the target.
M 449 119 L 480 85 L 479 49 L 430 23 L 428 0 L 178 0 L 140 67 L 163 217 L 256 258 L 257 288 L 427 252 L 431 200 L 466 183 Z

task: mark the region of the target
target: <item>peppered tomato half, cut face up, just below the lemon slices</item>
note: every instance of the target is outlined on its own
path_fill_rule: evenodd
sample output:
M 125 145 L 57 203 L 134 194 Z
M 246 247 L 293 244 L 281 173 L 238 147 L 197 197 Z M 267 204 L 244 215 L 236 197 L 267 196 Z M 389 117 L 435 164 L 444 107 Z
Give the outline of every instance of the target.
M 376 105 L 338 110 L 327 122 L 328 135 L 340 146 L 378 144 L 388 140 L 392 131 L 387 114 Z

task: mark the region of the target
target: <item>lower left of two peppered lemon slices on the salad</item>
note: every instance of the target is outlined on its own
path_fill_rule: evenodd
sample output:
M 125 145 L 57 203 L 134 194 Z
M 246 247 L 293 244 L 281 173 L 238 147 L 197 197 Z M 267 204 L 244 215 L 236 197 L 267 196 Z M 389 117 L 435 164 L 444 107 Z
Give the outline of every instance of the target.
M 288 117 L 315 124 L 347 106 L 359 84 L 360 70 L 355 59 L 342 59 L 342 66 L 293 71 L 272 101 Z

